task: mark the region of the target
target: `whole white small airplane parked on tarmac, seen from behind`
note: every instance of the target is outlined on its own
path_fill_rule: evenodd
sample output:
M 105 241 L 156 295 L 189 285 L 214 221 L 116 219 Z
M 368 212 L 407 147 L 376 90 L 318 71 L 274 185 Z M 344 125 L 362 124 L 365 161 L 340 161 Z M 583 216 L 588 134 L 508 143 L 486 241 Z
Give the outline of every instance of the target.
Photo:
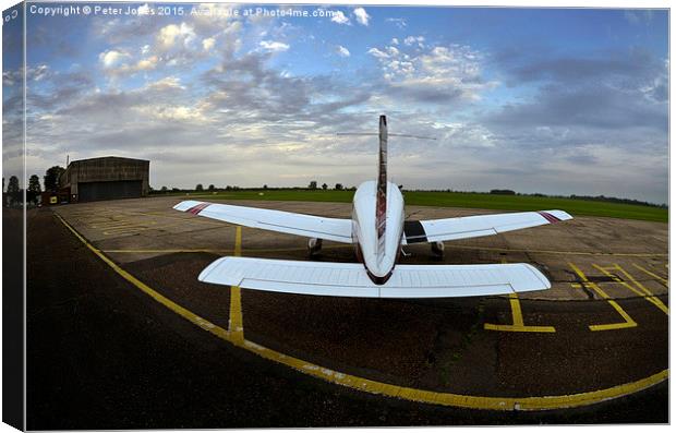
M 207 218 L 310 238 L 311 255 L 322 240 L 352 243 L 359 263 L 218 258 L 200 281 L 287 293 L 361 298 L 450 298 L 544 290 L 547 278 L 526 263 L 490 265 L 397 265 L 402 245 L 497 234 L 572 217 L 563 211 L 478 215 L 407 221 L 399 188 L 387 181 L 387 120 L 379 122 L 378 178 L 354 193 L 352 218 L 325 218 L 255 207 L 184 201 L 173 208 Z M 391 134 L 395 135 L 395 134 Z

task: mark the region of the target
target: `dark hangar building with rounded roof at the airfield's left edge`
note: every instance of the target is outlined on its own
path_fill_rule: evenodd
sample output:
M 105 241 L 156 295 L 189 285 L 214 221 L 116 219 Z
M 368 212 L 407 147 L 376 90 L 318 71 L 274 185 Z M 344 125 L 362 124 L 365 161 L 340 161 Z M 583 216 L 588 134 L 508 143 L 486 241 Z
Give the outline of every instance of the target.
M 61 175 L 70 202 L 135 199 L 148 195 L 150 161 L 106 156 L 74 160 Z

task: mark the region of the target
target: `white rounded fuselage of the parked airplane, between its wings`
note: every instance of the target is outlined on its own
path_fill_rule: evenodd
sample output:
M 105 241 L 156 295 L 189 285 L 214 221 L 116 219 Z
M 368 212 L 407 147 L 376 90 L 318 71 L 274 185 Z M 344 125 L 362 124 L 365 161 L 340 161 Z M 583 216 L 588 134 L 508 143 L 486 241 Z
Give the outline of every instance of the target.
M 401 251 L 405 214 L 403 196 L 399 188 L 387 182 L 386 226 L 378 239 L 376 194 L 376 181 L 364 182 L 357 189 L 352 201 L 352 241 L 369 277 L 382 285 L 390 277 Z

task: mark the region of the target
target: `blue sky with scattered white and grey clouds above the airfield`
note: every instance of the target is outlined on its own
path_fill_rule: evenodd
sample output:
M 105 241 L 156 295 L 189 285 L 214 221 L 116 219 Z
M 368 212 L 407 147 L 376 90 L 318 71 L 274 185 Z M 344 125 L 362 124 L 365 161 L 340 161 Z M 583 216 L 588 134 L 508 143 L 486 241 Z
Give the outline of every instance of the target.
M 668 203 L 665 10 L 86 4 L 122 14 L 28 5 L 28 176 L 116 155 L 156 189 L 359 185 L 377 140 L 336 133 L 383 113 L 437 139 L 390 139 L 407 189 Z

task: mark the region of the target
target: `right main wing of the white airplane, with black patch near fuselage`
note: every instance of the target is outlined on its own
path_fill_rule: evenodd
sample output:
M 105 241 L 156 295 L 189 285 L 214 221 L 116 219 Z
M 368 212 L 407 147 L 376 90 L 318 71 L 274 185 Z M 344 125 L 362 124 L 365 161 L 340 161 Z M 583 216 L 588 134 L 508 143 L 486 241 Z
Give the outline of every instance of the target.
M 564 211 L 518 212 L 460 218 L 406 221 L 402 243 L 476 238 L 572 219 Z

